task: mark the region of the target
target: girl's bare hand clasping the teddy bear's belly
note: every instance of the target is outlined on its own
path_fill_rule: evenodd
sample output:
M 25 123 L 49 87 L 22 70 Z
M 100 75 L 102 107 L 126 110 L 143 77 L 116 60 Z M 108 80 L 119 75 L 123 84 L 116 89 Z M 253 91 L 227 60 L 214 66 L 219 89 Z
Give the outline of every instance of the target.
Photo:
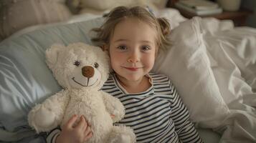
M 60 132 L 60 135 L 57 137 L 56 143 L 82 143 L 93 136 L 85 117 L 81 116 L 80 121 L 75 124 L 77 119 L 79 119 L 78 116 L 74 115 L 67 124 L 62 127 L 62 132 Z

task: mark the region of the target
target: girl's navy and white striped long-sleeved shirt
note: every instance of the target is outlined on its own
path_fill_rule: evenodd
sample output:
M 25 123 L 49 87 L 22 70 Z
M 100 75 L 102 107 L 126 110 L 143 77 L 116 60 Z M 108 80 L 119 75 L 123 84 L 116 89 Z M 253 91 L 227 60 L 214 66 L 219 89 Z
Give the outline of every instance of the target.
M 202 142 L 194 124 L 189 121 L 188 109 L 169 78 L 153 73 L 148 76 L 152 85 L 149 89 L 129 94 L 115 74 L 110 74 L 102 90 L 120 99 L 125 107 L 125 117 L 115 124 L 131 127 L 136 142 Z M 54 141 L 54 137 L 49 134 L 47 140 Z

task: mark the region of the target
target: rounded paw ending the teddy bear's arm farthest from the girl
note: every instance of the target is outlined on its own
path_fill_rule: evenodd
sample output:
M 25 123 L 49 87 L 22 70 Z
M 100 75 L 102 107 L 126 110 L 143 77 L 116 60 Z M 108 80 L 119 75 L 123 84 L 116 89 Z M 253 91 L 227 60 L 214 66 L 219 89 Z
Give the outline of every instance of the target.
M 29 112 L 29 124 L 37 132 L 47 132 L 57 127 L 55 114 L 44 106 L 39 106 Z

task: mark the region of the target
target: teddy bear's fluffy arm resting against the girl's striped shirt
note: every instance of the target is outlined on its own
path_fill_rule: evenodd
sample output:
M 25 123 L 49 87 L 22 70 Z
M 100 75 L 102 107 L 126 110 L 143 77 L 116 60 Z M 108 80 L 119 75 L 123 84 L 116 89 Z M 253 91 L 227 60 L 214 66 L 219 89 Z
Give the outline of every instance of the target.
M 101 91 L 101 93 L 107 111 L 114 116 L 113 122 L 120 121 L 125 115 L 125 107 L 123 107 L 123 104 L 119 99 L 111 96 L 107 92 Z

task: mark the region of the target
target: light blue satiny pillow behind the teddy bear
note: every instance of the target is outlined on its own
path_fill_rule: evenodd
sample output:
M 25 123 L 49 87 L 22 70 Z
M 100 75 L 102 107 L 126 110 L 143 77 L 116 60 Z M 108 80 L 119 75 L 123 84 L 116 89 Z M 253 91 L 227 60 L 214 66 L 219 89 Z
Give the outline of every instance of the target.
M 92 44 L 90 29 L 99 27 L 103 20 L 49 26 L 0 43 L 0 141 L 31 137 L 25 134 L 31 131 L 29 110 L 61 89 L 44 61 L 45 50 L 54 43 Z

